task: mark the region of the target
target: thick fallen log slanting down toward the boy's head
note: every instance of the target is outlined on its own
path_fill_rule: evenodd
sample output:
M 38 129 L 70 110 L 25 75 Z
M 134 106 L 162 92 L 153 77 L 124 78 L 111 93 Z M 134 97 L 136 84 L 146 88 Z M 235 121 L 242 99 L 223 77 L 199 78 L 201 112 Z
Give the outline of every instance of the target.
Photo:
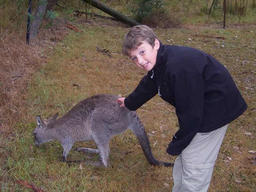
M 123 21 L 124 23 L 130 25 L 131 27 L 135 25 L 140 25 L 140 23 L 136 22 L 135 20 L 132 20 L 131 18 L 125 16 L 124 14 L 112 9 L 111 7 L 108 7 L 107 5 L 100 3 L 97 0 L 82 0 L 93 7 L 96 7 L 97 9 L 111 15 L 112 17 L 115 17 L 116 19 Z

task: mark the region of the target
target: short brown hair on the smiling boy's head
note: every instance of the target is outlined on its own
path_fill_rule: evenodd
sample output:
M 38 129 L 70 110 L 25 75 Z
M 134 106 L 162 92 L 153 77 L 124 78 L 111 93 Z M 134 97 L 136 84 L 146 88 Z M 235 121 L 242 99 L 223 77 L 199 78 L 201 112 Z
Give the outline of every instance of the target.
M 142 41 L 146 41 L 154 47 L 155 40 L 157 39 L 155 32 L 146 25 L 137 25 L 130 29 L 124 36 L 123 41 L 123 54 L 130 56 L 132 50 L 137 49 Z

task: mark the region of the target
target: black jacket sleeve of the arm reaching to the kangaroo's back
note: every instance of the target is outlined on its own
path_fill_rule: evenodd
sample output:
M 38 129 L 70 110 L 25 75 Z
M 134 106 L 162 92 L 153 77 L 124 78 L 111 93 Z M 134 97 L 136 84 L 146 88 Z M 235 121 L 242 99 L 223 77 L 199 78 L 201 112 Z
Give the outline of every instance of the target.
M 157 94 L 156 78 L 153 78 L 152 71 L 144 76 L 135 90 L 124 99 L 124 105 L 131 111 L 140 108 L 144 103 L 153 98 Z

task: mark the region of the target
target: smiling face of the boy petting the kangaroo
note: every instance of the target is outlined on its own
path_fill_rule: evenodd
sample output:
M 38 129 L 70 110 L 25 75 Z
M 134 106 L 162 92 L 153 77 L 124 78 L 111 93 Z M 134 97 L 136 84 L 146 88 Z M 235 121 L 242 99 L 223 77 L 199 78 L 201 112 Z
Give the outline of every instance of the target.
M 154 47 L 148 42 L 142 41 L 142 44 L 138 49 L 132 50 L 130 58 L 141 69 L 150 71 L 156 65 L 156 55 L 159 49 L 160 43 L 156 39 Z

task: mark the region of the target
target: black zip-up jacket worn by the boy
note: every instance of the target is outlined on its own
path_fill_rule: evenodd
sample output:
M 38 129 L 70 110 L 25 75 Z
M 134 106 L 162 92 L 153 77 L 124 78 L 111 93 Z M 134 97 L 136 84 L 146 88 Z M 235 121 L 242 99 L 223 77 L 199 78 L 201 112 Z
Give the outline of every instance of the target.
M 205 52 L 160 43 L 156 65 L 124 100 L 137 110 L 156 94 L 175 107 L 180 129 L 166 149 L 180 155 L 197 132 L 211 132 L 247 109 L 228 70 Z

